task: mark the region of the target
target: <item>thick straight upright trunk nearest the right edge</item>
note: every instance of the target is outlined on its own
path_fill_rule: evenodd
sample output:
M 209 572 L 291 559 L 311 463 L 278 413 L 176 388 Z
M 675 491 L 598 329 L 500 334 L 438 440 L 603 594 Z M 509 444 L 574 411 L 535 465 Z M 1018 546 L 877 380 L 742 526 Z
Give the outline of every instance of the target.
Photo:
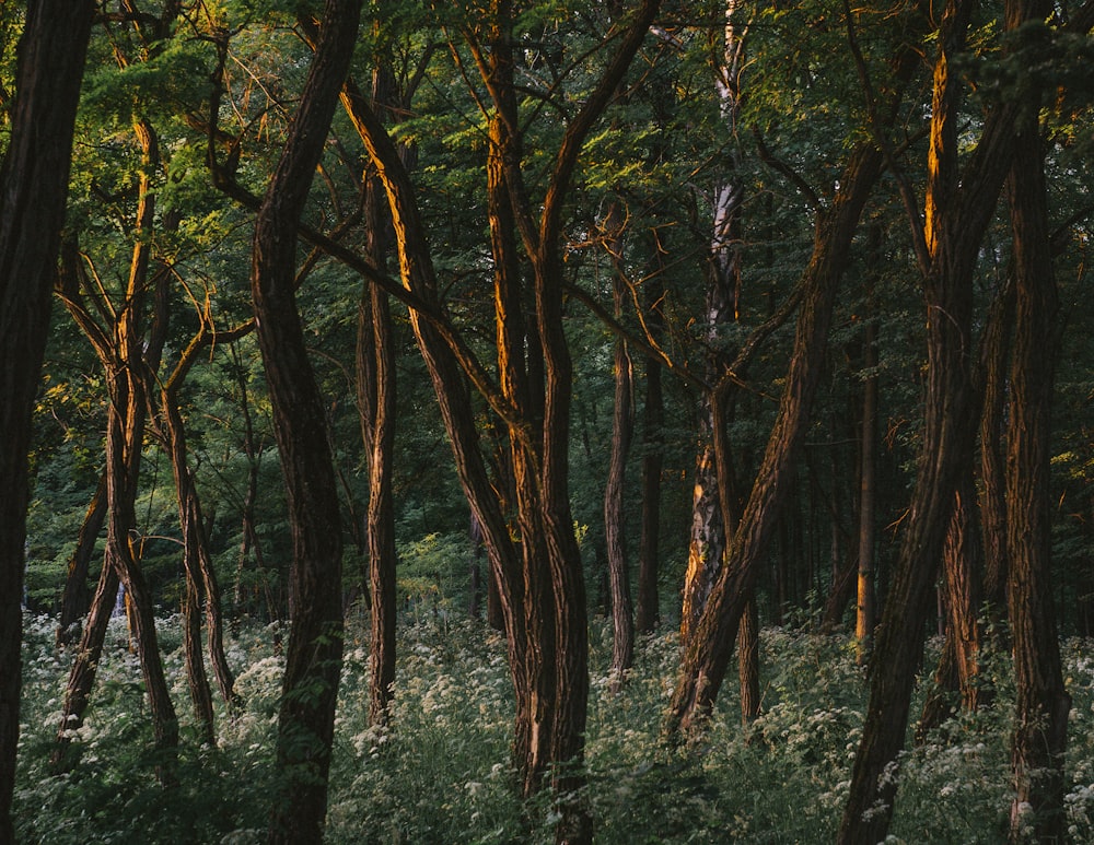
M 1049 466 L 1059 302 L 1036 101 L 1024 105 L 1016 136 L 1010 200 L 1017 300 L 1006 455 L 1008 596 L 1017 692 L 1010 841 L 1064 842 L 1071 696 L 1063 686 L 1052 601 Z

